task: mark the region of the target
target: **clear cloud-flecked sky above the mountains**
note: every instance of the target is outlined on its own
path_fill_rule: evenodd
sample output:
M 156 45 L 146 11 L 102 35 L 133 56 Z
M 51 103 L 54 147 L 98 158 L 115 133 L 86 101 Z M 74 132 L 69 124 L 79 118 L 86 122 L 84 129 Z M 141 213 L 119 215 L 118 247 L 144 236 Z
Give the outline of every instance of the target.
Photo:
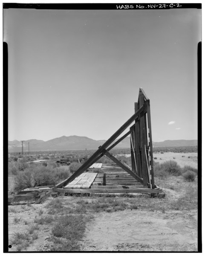
M 153 141 L 197 139 L 201 10 L 4 9 L 9 140 L 108 139 L 150 98 Z

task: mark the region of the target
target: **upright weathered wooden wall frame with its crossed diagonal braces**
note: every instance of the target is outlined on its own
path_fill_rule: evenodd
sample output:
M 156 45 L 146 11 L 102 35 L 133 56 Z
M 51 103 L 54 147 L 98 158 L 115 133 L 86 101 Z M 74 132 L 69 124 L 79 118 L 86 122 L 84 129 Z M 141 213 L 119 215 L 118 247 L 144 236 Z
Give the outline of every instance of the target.
M 132 125 L 133 122 L 134 124 Z M 118 136 L 122 134 L 128 127 L 130 127 L 130 130 L 120 139 L 115 141 Z M 132 168 L 124 163 L 121 163 L 113 156 L 113 154 L 109 152 L 112 148 L 114 148 L 115 145 L 120 143 L 129 134 Z M 115 143 L 113 143 L 114 141 Z M 154 183 L 153 173 L 150 100 L 147 98 L 142 88 L 139 89 L 138 102 L 135 102 L 135 113 L 133 116 L 131 116 L 130 119 L 128 119 L 127 122 L 125 122 L 124 125 L 122 125 L 103 145 L 101 145 L 98 150 L 86 162 L 84 162 L 73 175 L 61 183 L 58 183 L 56 186 L 54 186 L 54 189 L 61 190 L 61 188 L 67 187 L 67 185 L 71 184 L 73 180 L 85 172 L 103 155 L 109 157 L 110 160 L 123 169 L 126 174 L 128 173 L 130 177 L 133 177 L 133 180 L 143 186 L 142 189 L 145 189 L 146 192 L 149 191 L 149 189 L 150 192 L 155 191 L 157 186 Z M 58 192 L 60 192 L 60 190 Z M 79 191 L 81 190 L 82 189 Z

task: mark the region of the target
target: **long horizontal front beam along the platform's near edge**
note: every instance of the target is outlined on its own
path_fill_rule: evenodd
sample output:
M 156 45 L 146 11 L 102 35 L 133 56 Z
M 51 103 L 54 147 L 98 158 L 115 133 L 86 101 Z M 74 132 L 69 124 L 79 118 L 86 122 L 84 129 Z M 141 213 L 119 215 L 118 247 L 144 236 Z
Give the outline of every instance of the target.
M 63 193 L 160 193 L 162 189 L 53 189 L 54 192 Z

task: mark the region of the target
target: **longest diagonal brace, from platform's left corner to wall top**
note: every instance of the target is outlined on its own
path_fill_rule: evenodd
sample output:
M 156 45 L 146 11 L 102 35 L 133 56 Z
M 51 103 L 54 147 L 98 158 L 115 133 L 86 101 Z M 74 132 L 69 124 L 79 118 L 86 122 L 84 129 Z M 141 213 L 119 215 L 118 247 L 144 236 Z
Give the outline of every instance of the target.
M 103 152 L 103 150 L 107 148 L 115 139 L 117 139 L 117 137 L 136 119 L 136 117 L 142 111 L 144 111 L 146 107 L 147 107 L 147 102 L 145 102 L 144 105 L 141 106 L 141 108 L 139 108 L 139 110 L 136 113 L 134 113 L 133 116 L 131 116 L 130 119 L 127 120 L 127 122 L 124 123 L 124 125 L 122 125 L 101 147 L 99 147 L 99 149 L 94 154 L 92 154 L 92 156 L 85 163 L 83 163 L 83 165 L 80 166 L 80 168 L 76 172 L 74 172 L 66 181 L 58 184 L 58 186 L 64 186 L 65 184 L 71 182 L 76 177 L 81 175 L 81 173 L 83 173 L 93 163 L 95 163 L 96 158 L 99 157 L 99 155 Z M 58 186 L 55 186 L 55 188 Z

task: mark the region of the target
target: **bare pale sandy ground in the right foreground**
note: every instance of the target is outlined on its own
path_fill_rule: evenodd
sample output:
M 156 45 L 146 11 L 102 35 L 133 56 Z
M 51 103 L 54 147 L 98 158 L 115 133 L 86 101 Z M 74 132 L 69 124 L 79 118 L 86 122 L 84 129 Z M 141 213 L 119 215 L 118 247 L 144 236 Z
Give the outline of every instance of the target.
M 85 251 L 196 251 L 195 218 L 179 212 L 102 212 L 87 225 Z M 173 215 L 171 218 L 163 219 Z

